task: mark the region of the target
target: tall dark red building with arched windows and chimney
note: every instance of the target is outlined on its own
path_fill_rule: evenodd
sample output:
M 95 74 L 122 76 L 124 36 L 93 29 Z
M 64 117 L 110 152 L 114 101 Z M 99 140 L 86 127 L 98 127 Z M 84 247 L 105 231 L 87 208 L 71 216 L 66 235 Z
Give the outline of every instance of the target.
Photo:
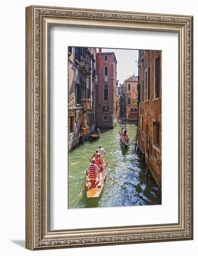
M 96 57 L 96 128 L 113 128 L 116 123 L 117 60 L 114 52 L 99 52 Z

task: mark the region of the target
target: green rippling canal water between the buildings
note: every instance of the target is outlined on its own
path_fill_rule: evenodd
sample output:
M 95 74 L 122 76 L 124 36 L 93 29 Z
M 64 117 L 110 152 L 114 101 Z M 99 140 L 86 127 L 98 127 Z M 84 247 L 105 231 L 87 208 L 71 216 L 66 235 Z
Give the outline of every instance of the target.
M 146 180 L 146 166 L 134 150 L 136 130 L 134 124 L 127 124 L 127 132 L 130 138 L 130 147 L 124 150 L 120 145 L 121 127 L 123 124 L 116 124 L 113 129 L 102 130 L 102 137 L 95 141 L 86 141 L 69 153 L 69 208 L 90 208 L 90 207 L 121 207 L 133 205 L 154 205 L 161 204 L 161 193 L 151 175 Z M 85 183 L 85 170 L 89 166 L 89 161 L 75 165 L 90 158 L 102 145 L 106 152 L 105 161 L 133 168 L 130 171 L 113 165 L 106 168 L 107 175 L 123 185 L 126 189 L 118 186 L 108 178 L 104 184 L 99 198 L 87 198 L 86 189 L 80 192 Z

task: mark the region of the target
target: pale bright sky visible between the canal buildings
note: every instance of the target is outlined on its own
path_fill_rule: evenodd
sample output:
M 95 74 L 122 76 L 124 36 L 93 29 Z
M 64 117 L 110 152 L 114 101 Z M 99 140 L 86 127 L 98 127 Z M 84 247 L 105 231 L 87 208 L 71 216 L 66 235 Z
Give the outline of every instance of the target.
M 133 74 L 138 75 L 137 62 L 135 62 L 138 61 L 138 50 L 102 48 L 102 52 L 115 53 L 118 84 L 122 84 L 125 79 Z

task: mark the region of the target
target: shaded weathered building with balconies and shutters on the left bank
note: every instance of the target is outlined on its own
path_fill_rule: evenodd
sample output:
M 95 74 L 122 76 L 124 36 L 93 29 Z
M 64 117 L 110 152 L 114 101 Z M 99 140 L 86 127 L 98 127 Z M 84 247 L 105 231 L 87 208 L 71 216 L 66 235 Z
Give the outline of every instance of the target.
M 96 48 L 68 47 L 68 145 L 95 130 Z

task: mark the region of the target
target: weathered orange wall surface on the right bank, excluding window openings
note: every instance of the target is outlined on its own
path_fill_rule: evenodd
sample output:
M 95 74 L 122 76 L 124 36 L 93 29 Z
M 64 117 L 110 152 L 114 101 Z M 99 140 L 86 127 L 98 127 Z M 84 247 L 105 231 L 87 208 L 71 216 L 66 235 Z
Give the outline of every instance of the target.
M 154 61 L 155 58 L 160 55 L 160 97 L 154 98 Z M 158 185 L 161 185 L 161 51 L 144 51 L 144 58 L 140 62 L 140 83 L 142 94 L 142 80 L 145 81 L 145 71 L 150 66 L 150 100 L 139 103 L 139 129 L 138 129 L 138 145 L 145 153 L 147 162 L 148 149 L 147 142 L 150 137 L 151 148 L 149 152 L 149 167 L 153 172 L 153 176 L 156 179 Z M 144 82 L 145 86 L 145 82 Z M 144 89 L 145 91 L 145 89 Z M 143 116 L 143 130 L 142 119 Z M 160 146 L 156 147 L 153 143 L 153 121 L 160 122 Z

